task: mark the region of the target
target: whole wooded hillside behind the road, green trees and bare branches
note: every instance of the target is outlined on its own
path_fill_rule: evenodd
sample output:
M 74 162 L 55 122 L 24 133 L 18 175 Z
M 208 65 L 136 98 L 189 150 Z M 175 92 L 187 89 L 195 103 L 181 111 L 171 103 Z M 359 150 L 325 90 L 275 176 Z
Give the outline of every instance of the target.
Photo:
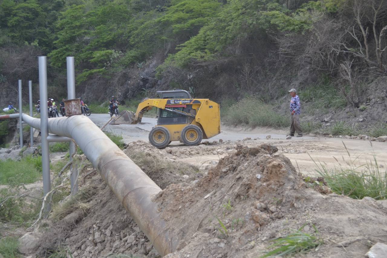
M 305 70 L 297 85 L 310 110 L 361 108 L 367 75 L 386 72 L 385 12 L 382 0 L 3 0 L 0 86 L 36 76 L 36 55 L 48 55 L 49 91 L 63 96 L 65 57 L 74 56 L 89 102 L 147 96 L 139 82 L 152 66 L 164 88 L 270 104 Z

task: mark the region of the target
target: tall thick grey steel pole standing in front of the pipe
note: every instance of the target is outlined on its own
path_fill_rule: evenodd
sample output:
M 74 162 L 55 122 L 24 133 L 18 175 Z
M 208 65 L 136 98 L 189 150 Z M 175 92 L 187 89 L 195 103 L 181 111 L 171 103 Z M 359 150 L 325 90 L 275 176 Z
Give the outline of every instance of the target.
M 47 58 L 38 57 L 39 60 L 39 96 L 40 107 L 40 131 L 42 136 L 42 168 L 43 168 L 43 193 L 46 195 L 51 190 L 50 182 L 50 156 L 48 149 L 48 111 L 47 111 Z M 47 203 L 45 215 L 51 210 Z

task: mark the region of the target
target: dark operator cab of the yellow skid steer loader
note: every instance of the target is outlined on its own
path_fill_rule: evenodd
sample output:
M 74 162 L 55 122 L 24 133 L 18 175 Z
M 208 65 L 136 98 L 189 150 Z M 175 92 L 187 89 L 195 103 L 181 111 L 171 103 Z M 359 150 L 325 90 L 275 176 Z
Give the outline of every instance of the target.
M 175 90 L 175 91 L 157 91 L 156 94 L 159 98 L 167 99 L 190 99 L 191 95 L 188 91 L 185 90 Z M 192 105 L 180 105 L 177 107 L 168 107 L 173 110 L 180 110 L 191 114 L 196 114 L 196 110 L 192 110 Z M 163 110 L 157 108 L 156 114 L 158 116 L 157 124 L 158 125 L 168 125 L 168 124 L 190 124 L 192 117 L 187 117 L 186 115 L 180 115 L 172 113 L 168 110 Z

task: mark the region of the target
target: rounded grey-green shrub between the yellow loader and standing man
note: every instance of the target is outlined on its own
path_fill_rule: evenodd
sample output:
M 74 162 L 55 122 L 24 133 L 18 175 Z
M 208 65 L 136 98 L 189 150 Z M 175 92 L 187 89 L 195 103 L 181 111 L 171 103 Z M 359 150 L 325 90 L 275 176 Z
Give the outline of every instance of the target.
M 247 97 L 231 105 L 226 111 L 224 121 L 227 124 L 246 124 L 249 126 L 284 127 L 289 125 L 289 118 L 276 113 L 271 105 Z

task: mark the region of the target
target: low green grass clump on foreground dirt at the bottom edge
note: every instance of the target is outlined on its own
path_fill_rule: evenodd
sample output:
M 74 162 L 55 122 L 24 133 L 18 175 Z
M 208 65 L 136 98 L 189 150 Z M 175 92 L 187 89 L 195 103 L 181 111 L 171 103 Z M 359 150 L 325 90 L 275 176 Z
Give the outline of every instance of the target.
M 324 244 L 324 241 L 319 237 L 319 231 L 317 230 L 317 227 L 313 224 L 311 224 L 314 229 L 314 232 L 312 234 L 302 232 L 306 225 L 307 224 L 304 224 L 300 229 L 293 230 L 294 232 L 289 233 L 284 237 L 279 237 L 271 240 L 271 242 L 274 242 L 274 244 L 272 244 L 268 248 L 276 249 L 268 252 L 264 256 L 261 256 L 261 258 L 269 256 L 285 256 L 294 253 L 306 253 L 311 249 L 315 249 L 317 251 L 320 246 Z

